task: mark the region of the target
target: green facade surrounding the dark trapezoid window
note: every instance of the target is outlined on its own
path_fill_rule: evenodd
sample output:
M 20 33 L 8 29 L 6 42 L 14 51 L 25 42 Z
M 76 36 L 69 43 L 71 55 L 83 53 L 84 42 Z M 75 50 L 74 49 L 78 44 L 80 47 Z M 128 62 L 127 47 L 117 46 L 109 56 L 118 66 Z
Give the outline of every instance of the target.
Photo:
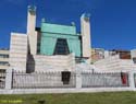
M 59 38 L 66 39 L 70 53 L 74 53 L 76 57 L 82 56 L 81 39 L 79 35 L 76 34 L 75 26 L 63 26 L 47 23 L 41 23 L 40 54 L 53 55 L 57 46 L 57 39 Z

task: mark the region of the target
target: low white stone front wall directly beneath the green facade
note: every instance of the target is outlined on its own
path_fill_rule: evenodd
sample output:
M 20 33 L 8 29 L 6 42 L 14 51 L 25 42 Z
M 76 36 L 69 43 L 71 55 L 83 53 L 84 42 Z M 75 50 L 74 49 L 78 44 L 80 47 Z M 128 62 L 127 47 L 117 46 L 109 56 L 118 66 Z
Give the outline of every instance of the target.
M 32 65 L 35 66 L 35 71 L 47 71 L 47 70 L 74 70 L 75 67 L 75 56 L 73 54 L 67 56 L 44 56 L 44 55 L 35 55 L 34 61 Z M 30 66 L 29 66 L 30 67 Z

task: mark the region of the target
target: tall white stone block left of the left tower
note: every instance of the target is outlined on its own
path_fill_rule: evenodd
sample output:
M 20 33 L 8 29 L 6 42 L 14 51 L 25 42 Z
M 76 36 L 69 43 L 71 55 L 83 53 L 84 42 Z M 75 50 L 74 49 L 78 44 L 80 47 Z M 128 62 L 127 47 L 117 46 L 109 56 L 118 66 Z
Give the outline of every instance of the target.
M 11 33 L 10 67 L 18 71 L 26 71 L 27 62 L 27 35 Z

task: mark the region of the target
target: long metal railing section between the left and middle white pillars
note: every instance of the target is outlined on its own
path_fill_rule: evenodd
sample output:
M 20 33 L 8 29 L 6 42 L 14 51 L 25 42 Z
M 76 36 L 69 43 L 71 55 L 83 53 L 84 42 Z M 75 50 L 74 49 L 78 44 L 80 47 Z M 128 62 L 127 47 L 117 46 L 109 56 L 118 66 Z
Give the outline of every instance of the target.
M 64 84 L 62 73 L 37 72 L 24 73 L 13 72 L 12 89 L 47 89 L 47 88 L 75 88 L 75 73 L 71 73 L 70 82 Z

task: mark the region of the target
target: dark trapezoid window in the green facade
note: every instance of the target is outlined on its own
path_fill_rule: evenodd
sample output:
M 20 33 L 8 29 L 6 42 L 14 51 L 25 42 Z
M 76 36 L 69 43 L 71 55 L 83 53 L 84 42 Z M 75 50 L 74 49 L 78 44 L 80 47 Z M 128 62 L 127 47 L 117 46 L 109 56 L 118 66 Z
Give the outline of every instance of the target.
M 54 48 L 54 55 L 67 55 L 70 54 L 67 42 L 63 38 L 58 38 L 57 45 Z

